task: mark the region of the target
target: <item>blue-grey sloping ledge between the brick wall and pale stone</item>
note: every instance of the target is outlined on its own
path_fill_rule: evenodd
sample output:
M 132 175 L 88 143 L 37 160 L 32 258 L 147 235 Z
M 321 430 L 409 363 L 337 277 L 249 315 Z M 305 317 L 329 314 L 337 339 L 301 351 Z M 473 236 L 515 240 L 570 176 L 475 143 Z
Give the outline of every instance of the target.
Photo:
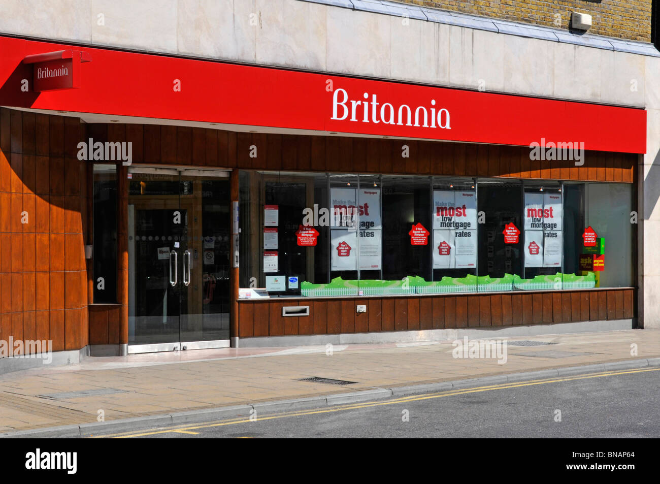
M 562 42 L 564 44 L 574 44 L 576 46 L 586 46 L 596 49 L 612 50 L 616 52 L 628 52 L 636 53 L 639 55 L 649 55 L 651 57 L 660 57 L 660 52 L 658 52 L 653 44 L 648 42 L 635 42 L 632 40 L 623 40 L 591 34 L 579 35 L 573 34 L 568 30 L 558 30 L 546 26 L 524 24 L 521 22 L 512 22 L 510 20 L 500 20 L 498 18 L 479 17 L 478 15 L 430 9 L 428 7 L 408 5 L 405 3 L 398 3 L 389 0 L 300 1 L 321 3 L 322 5 L 331 5 L 333 7 L 343 7 L 345 9 L 380 13 L 383 15 L 393 15 L 397 17 L 403 17 L 405 14 L 409 18 L 426 20 L 428 22 L 435 22 L 438 24 L 475 28 L 477 30 L 488 30 L 490 32 L 498 32 L 500 34 L 550 40 L 552 42 Z

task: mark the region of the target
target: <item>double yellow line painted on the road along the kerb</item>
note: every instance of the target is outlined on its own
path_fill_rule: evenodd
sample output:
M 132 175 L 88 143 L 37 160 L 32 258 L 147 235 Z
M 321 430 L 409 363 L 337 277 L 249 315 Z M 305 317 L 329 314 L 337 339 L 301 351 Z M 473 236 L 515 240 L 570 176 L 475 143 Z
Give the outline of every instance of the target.
M 570 382 L 573 380 L 586 380 L 587 378 L 602 378 L 603 376 L 616 376 L 632 373 L 643 373 L 649 371 L 658 371 L 660 368 L 644 368 L 641 370 L 620 370 L 620 371 L 611 371 L 595 374 L 583 374 L 570 376 L 567 378 L 548 378 L 546 380 L 529 380 L 527 382 L 512 382 L 512 383 L 502 383 L 497 385 L 488 385 L 488 386 L 478 386 L 475 388 L 465 388 L 464 390 L 449 390 L 447 392 L 436 393 L 436 394 L 423 394 L 423 395 L 411 395 L 407 397 L 387 399 L 385 401 L 367 401 L 364 403 L 354 403 L 348 405 L 337 405 L 330 408 L 321 408 L 314 410 L 303 410 L 303 411 L 291 411 L 284 413 L 276 413 L 273 415 L 266 415 L 265 417 L 257 417 L 255 420 L 251 421 L 249 418 L 242 417 L 240 419 L 230 419 L 220 422 L 206 422 L 200 423 L 197 425 L 190 425 L 185 427 L 176 427 L 172 429 L 159 430 L 159 431 L 146 431 L 146 432 L 123 432 L 118 434 L 108 434 L 108 435 L 97 435 L 94 438 L 129 438 L 129 437 L 143 437 L 156 434 L 166 434 L 166 433 L 180 433 L 180 434 L 199 434 L 195 432 L 200 429 L 210 429 L 213 427 L 224 427 L 225 425 L 236 425 L 238 423 L 250 423 L 254 421 L 265 421 L 273 419 L 284 419 L 288 417 L 301 417 L 303 415 L 315 415 L 318 413 L 333 413 L 341 412 L 347 410 L 362 409 L 368 407 L 376 407 L 378 405 L 399 405 L 400 403 L 407 403 L 409 401 L 422 401 L 432 398 L 443 398 L 451 397 L 455 395 L 466 395 L 466 394 L 475 394 L 479 392 L 490 392 L 492 390 L 508 390 L 509 388 L 520 388 L 523 386 L 534 386 L 534 385 L 545 385 L 548 383 L 559 383 L 559 382 Z

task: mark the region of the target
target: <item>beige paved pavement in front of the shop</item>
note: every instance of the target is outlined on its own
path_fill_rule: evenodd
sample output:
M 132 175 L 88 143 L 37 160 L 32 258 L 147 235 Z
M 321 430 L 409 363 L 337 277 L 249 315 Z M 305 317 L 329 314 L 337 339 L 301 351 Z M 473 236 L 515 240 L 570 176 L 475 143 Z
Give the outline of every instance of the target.
M 506 363 L 455 358 L 452 341 L 425 341 L 94 357 L 22 370 L 0 375 L 0 436 L 84 436 L 489 382 L 660 366 L 660 330 L 496 341 L 507 342 Z M 352 383 L 300 380 L 314 376 Z

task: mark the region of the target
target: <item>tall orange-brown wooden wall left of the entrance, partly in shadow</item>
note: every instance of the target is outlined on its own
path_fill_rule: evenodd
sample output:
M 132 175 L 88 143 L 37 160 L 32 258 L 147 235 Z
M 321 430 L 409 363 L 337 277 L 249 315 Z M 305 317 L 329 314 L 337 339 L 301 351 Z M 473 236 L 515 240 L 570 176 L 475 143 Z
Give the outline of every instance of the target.
M 87 170 L 78 118 L 0 108 L 0 339 L 87 345 Z

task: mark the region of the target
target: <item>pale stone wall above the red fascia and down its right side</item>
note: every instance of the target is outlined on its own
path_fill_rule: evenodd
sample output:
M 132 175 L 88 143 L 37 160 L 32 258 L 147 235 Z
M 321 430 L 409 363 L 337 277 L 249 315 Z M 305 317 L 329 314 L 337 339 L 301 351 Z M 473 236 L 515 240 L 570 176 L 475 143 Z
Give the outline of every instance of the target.
M 660 328 L 658 57 L 300 0 L 0 0 L 0 12 L 6 34 L 644 107 L 639 312 Z

